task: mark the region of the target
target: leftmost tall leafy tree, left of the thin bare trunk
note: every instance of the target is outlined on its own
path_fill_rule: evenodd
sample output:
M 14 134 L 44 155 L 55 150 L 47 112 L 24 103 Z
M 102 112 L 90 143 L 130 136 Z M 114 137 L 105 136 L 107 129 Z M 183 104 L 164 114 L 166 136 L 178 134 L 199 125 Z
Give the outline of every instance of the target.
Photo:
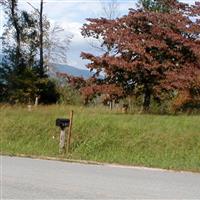
M 24 97 L 33 90 L 31 82 L 35 79 L 33 66 L 33 49 L 29 49 L 27 41 L 34 37 L 34 19 L 25 11 L 19 11 L 16 0 L 4 1 L 7 14 L 7 24 L 3 33 L 3 62 L 0 68 L 0 80 L 4 95 L 13 102 L 21 101 L 19 94 Z M 29 51 L 29 53 L 28 53 Z

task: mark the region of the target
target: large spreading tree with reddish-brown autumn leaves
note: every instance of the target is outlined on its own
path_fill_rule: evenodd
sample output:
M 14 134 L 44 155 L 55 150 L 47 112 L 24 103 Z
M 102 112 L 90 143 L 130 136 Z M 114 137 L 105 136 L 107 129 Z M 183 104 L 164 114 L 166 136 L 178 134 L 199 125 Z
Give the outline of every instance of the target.
M 84 90 L 119 98 L 139 93 L 148 111 L 152 97 L 191 89 L 200 74 L 200 3 L 173 3 L 170 12 L 131 9 L 114 20 L 87 19 L 83 36 L 101 39 L 107 51 L 81 54 L 97 72 L 96 84 Z

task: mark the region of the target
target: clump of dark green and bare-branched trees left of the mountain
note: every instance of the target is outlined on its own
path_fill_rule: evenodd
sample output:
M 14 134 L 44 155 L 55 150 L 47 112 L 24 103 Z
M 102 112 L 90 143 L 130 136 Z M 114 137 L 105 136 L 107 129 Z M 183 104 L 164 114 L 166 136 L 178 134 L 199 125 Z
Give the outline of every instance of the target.
M 31 12 L 20 10 L 17 0 L 2 0 L 0 4 L 7 21 L 1 38 L 0 101 L 32 103 L 40 98 L 42 103 L 57 102 L 59 93 L 47 72 L 55 57 L 66 59 L 72 36 L 50 24 L 43 0 L 39 8 L 27 3 Z M 65 37 L 60 39 L 59 35 Z

